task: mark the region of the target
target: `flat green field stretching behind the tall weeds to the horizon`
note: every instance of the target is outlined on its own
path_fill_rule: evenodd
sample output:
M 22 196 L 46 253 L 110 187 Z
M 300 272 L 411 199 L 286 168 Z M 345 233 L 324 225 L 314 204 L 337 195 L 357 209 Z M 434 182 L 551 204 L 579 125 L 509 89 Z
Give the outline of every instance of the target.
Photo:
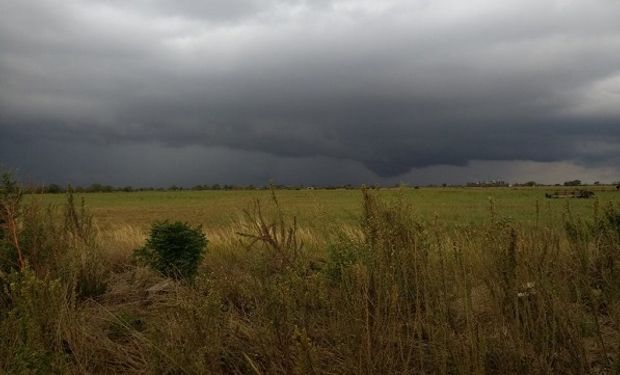
M 390 188 L 373 190 L 379 197 L 411 207 L 421 221 L 435 224 L 476 225 L 493 214 L 522 225 L 559 223 L 567 210 L 590 217 L 595 206 L 620 202 L 613 186 L 581 187 L 596 193 L 594 199 L 547 199 L 545 193 L 573 190 L 566 187 L 532 188 Z M 281 208 L 295 216 L 302 228 L 324 230 L 334 225 L 356 225 L 362 210 L 360 190 L 276 190 Z M 156 220 L 181 220 L 200 224 L 208 233 L 235 225 L 243 211 L 259 200 L 271 207 L 272 192 L 234 191 L 148 191 L 77 194 L 84 198 L 103 231 L 131 226 L 147 229 Z M 32 196 L 42 203 L 62 204 L 64 194 Z

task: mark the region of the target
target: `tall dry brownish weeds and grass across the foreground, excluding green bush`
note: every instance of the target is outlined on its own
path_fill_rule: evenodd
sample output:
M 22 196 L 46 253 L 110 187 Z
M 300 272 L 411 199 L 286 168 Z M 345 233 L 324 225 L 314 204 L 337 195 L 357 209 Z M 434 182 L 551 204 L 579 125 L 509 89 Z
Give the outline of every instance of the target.
M 4 372 L 620 371 L 614 203 L 524 220 L 490 200 L 486 220 L 446 223 L 363 191 L 355 221 L 311 226 L 263 194 L 207 226 L 178 279 L 134 257 L 143 230 L 102 230 L 71 194 L 48 207 L 9 177 L 1 193 Z

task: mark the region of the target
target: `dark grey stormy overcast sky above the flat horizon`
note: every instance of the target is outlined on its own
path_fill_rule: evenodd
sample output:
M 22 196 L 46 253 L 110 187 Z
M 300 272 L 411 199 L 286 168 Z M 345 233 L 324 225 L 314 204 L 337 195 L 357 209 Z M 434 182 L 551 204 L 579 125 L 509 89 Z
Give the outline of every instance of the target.
M 617 0 L 0 0 L 44 183 L 620 180 Z

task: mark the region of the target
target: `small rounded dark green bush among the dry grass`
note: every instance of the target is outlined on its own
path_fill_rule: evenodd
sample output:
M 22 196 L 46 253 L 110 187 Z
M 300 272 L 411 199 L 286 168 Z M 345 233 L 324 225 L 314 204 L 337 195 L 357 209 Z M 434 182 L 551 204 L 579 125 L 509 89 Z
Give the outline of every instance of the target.
M 207 237 L 202 227 L 190 227 L 180 221 L 156 222 L 146 245 L 134 255 L 165 276 L 191 279 L 204 256 Z

